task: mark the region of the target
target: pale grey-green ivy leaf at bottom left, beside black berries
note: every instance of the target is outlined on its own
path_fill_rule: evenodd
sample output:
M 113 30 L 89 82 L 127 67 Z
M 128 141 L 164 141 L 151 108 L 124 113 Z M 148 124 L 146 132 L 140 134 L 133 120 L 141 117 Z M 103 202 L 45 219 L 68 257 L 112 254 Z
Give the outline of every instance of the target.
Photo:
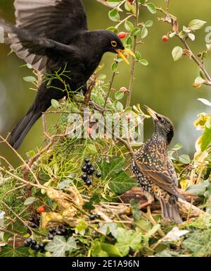
M 72 250 L 76 248 L 77 244 L 74 237 L 71 236 L 68 241 L 66 241 L 64 236 L 58 235 L 53 238 L 51 243 L 45 246 L 45 250 L 52 252 L 53 257 L 65 257 L 67 251 L 71 253 Z

